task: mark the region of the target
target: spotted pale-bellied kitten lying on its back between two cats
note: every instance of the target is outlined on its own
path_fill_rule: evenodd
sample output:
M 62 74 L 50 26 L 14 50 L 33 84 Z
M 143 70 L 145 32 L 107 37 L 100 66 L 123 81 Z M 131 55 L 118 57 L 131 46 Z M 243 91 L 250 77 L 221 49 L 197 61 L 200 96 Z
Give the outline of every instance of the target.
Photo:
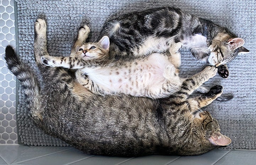
M 78 32 L 78 38 L 88 36 L 88 33 L 88 27 L 84 26 Z M 98 43 L 76 44 L 71 53 L 71 56 L 76 57 L 42 56 L 41 60 L 47 66 L 79 69 L 77 81 L 96 94 L 124 93 L 137 97 L 163 98 L 176 92 L 185 80 L 178 76 L 178 71 L 175 72 L 173 58 L 168 54 L 154 53 L 136 59 L 113 61 L 109 57 L 113 53 L 108 53 L 110 43 L 107 36 Z

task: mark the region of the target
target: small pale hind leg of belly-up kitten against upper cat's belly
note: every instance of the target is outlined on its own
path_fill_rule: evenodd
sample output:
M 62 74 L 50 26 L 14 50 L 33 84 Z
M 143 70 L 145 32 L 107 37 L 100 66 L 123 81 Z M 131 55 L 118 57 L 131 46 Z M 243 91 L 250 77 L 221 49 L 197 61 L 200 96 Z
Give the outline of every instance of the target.
M 171 54 L 170 61 L 176 69 L 178 69 L 180 67 L 180 64 L 181 64 L 181 54 L 179 52 L 181 47 L 182 47 L 182 43 L 178 42 L 178 43 L 172 44 L 170 49 L 169 49 L 169 52 Z

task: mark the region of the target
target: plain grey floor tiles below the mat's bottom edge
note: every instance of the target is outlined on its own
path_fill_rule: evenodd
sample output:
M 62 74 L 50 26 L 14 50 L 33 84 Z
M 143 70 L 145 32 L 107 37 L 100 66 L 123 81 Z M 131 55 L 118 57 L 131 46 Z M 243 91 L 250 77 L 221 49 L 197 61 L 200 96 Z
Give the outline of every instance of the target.
M 110 157 L 73 147 L 0 145 L 0 165 L 256 165 L 256 150 L 212 150 L 199 156 Z

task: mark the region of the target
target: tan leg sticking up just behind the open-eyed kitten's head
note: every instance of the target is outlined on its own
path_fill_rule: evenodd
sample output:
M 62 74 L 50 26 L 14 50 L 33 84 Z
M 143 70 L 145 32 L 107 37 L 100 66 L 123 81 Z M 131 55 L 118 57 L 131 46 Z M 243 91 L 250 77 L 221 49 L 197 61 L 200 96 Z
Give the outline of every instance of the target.
M 77 52 L 76 47 L 82 46 L 86 42 L 86 39 L 88 38 L 89 33 L 90 33 L 90 28 L 87 25 L 83 25 L 78 29 L 78 34 L 77 34 L 75 43 L 71 48 L 71 54 L 70 54 L 71 57 L 76 56 L 76 52 Z

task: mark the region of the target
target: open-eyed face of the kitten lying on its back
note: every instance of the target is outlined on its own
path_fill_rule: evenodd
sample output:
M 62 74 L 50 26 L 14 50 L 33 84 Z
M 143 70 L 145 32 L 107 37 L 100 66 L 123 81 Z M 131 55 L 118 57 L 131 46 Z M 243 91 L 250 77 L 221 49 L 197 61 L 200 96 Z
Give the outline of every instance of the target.
M 99 42 L 85 43 L 84 45 L 76 46 L 76 56 L 81 57 L 83 60 L 99 59 L 107 56 L 109 51 L 109 38 L 102 37 Z

